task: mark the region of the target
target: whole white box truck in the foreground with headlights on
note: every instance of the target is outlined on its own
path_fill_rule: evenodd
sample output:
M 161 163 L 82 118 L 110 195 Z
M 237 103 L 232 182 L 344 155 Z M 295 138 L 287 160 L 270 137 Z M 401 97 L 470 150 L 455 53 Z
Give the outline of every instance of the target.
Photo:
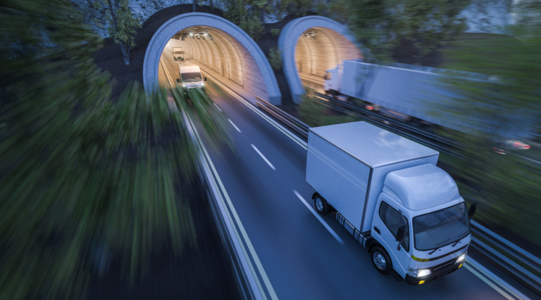
M 306 182 L 382 274 L 421 285 L 458 270 L 471 242 L 466 203 L 439 152 L 366 122 L 309 129 Z

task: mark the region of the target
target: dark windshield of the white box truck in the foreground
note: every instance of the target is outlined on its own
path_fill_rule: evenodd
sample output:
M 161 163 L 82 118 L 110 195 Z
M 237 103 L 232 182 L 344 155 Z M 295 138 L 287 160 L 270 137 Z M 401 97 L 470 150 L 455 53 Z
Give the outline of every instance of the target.
M 413 218 L 415 248 L 428 251 L 452 244 L 470 233 L 464 202 Z

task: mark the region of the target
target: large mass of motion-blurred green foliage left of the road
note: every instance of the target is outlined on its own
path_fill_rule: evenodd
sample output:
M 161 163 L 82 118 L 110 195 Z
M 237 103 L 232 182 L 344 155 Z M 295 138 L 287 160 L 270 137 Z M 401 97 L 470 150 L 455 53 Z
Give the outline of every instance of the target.
M 0 7 L 0 299 L 81 299 L 111 261 L 133 282 L 151 253 L 197 247 L 182 115 L 137 83 L 111 99 L 80 20 L 70 1 Z M 180 101 L 227 142 L 209 102 Z

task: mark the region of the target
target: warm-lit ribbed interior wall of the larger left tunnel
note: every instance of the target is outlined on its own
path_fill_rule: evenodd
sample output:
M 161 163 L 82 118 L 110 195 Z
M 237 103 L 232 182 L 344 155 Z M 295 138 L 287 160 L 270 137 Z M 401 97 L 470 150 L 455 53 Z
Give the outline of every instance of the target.
M 247 49 L 230 34 L 211 28 L 206 30 L 212 39 L 170 39 L 167 47 L 182 47 L 188 60 L 205 65 L 255 96 L 268 100 L 263 75 Z

